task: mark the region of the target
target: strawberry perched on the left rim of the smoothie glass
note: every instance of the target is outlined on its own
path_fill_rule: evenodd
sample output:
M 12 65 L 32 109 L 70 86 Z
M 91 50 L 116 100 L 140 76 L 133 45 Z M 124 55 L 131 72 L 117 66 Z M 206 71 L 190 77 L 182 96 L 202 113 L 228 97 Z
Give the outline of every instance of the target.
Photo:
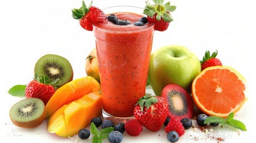
M 89 7 L 87 7 L 85 2 L 82 1 L 81 8 L 73 8 L 72 10 L 72 17 L 79 20 L 80 25 L 88 31 L 92 31 L 92 24 L 103 23 L 107 20 L 104 12 L 97 7 L 91 6 L 91 4 Z

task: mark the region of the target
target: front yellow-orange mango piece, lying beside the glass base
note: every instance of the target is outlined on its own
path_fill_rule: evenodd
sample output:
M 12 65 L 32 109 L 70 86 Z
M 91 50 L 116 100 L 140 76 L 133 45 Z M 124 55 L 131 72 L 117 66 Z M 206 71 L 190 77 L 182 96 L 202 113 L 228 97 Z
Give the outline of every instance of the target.
M 59 108 L 48 118 L 48 132 L 61 137 L 76 135 L 87 128 L 93 117 L 100 116 L 102 108 L 100 92 L 91 92 Z

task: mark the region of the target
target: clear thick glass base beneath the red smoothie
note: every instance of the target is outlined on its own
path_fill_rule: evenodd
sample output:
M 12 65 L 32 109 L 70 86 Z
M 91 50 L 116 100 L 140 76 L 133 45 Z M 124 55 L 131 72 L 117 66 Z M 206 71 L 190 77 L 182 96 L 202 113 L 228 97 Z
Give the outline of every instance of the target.
M 102 110 L 102 117 L 104 120 L 112 120 L 115 125 L 117 123 L 126 123 L 128 120 L 132 120 L 132 119 L 135 119 L 134 116 L 131 116 L 131 117 L 116 117 L 116 116 L 112 116 L 108 113 L 106 113 L 106 111 Z

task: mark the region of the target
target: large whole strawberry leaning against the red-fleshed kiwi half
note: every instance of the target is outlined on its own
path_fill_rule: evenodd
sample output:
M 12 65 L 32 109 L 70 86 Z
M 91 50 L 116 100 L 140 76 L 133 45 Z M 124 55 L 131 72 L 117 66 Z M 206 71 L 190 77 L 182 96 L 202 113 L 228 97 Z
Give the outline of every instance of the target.
M 156 132 L 162 128 L 168 114 L 168 103 L 155 95 L 141 97 L 134 108 L 134 117 L 145 128 Z

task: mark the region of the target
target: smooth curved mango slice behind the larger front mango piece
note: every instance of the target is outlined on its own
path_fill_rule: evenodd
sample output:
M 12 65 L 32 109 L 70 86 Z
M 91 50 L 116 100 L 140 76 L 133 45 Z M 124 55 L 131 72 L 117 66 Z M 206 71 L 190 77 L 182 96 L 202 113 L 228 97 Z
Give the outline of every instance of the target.
M 100 83 L 91 76 L 81 77 L 66 83 L 55 91 L 53 97 L 45 105 L 45 118 L 51 116 L 51 114 L 63 105 L 69 104 L 95 91 L 100 91 Z

